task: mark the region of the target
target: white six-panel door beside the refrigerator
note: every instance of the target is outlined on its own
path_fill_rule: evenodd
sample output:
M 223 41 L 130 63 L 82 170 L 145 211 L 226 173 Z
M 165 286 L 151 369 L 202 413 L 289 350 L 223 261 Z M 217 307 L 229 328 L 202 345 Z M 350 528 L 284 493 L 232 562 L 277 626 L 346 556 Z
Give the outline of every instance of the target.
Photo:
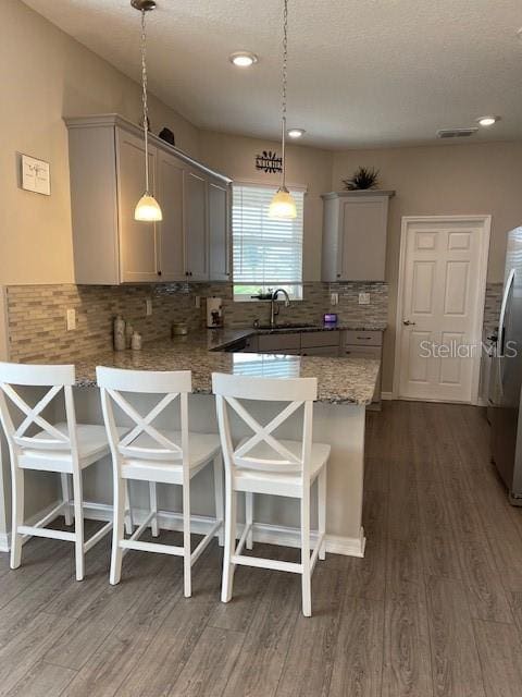
M 399 396 L 471 402 L 484 222 L 411 221 L 403 234 Z

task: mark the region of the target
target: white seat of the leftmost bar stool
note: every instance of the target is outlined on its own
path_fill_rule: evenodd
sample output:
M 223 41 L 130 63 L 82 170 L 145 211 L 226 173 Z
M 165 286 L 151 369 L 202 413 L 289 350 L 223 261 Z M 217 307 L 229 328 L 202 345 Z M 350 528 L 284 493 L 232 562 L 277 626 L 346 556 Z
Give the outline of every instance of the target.
M 69 433 L 67 424 L 59 423 L 53 424 L 53 426 L 64 436 Z M 123 436 L 128 429 L 123 428 L 120 430 Z M 41 441 L 51 440 L 51 436 L 47 431 L 39 431 L 35 435 L 35 439 L 41 443 Z M 76 424 L 76 442 L 80 469 L 109 455 L 109 442 L 104 426 Z M 36 450 L 25 448 L 18 457 L 18 465 L 25 469 L 41 469 L 44 472 L 63 472 L 69 474 L 73 472 L 71 453 L 62 450 Z

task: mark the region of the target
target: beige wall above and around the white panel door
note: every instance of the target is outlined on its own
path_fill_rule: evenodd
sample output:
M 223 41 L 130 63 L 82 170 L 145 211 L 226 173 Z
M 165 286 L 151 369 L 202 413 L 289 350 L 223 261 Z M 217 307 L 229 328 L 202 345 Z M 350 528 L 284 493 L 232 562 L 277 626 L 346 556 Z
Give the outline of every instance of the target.
M 341 187 L 341 180 L 360 164 L 378 169 L 381 187 L 396 191 L 390 201 L 386 259 L 390 307 L 383 389 L 390 391 L 402 216 L 492 215 L 488 281 L 501 281 L 506 233 L 522 223 L 522 143 L 336 152 L 333 187 Z

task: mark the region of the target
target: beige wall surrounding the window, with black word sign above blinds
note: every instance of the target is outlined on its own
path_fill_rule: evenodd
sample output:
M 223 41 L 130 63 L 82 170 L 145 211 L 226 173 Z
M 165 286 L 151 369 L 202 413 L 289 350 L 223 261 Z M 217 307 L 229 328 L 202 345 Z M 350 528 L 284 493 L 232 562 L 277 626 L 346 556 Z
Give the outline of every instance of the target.
M 207 164 L 232 179 L 277 185 L 281 174 L 256 169 L 256 155 L 263 150 L 281 152 L 281 143 L 222 133 L 200 132 L 200 154 Z M 303 280 L 321 280 L 323 203 L 321 194 L 332 185 L 333 154 L 318 148 L 288 146 L 287 182 L 308 187 L 304 198 Z

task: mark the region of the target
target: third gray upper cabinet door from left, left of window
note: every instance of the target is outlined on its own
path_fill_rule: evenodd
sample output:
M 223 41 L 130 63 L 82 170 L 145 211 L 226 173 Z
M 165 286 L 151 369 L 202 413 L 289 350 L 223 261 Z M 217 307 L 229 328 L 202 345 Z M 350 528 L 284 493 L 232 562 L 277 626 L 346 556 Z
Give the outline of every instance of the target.
M 185 170 L 186 273 L 191 281 L 209 280 L 207 179 Z

